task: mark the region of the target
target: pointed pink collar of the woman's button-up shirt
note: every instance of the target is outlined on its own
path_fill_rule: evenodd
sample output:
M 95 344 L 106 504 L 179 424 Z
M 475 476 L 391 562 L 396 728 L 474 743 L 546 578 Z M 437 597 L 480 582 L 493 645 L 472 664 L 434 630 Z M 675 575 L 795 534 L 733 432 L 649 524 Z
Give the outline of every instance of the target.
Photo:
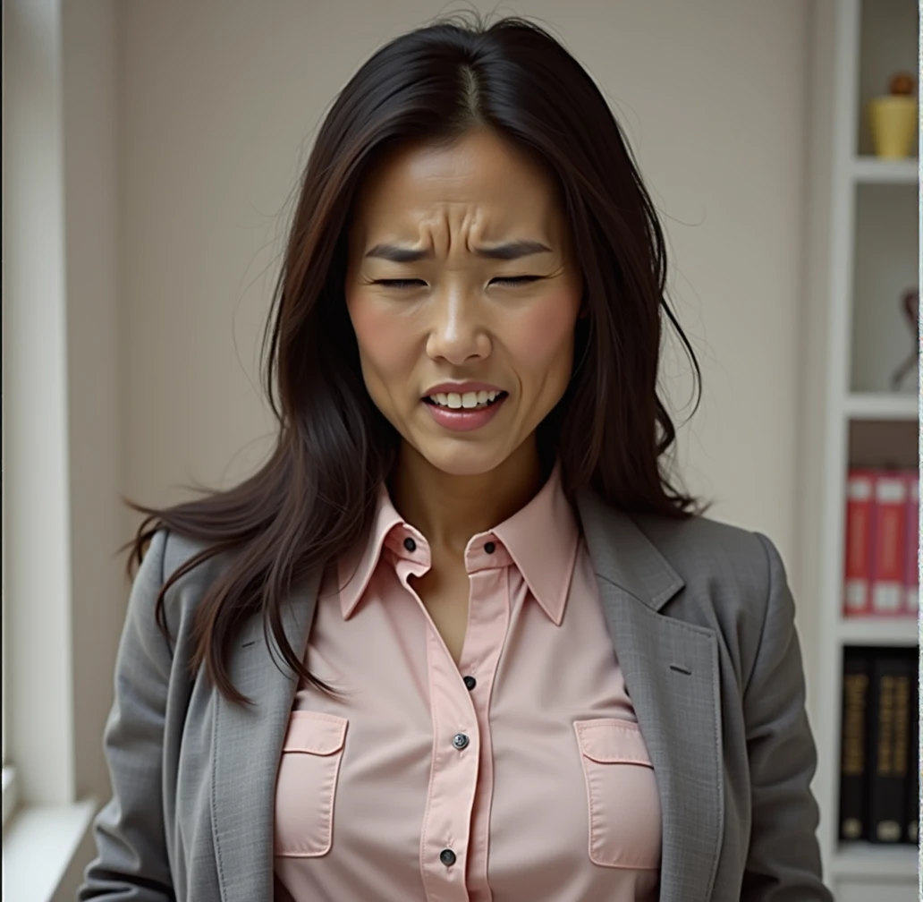
M 413 539 L 413 552 L 403 545 Z M 466 559 L 475 545 L 499 540 L 522 574 L 545 614 L 558 626 L 564 618 L 570 579 L 577 559 L 580 530 L 560 480 L 560 464 L 556 464 L 545 485 L 521 510 L 494 529 L 472 536 Z M 395 554 L 430 566 L 429 544 L 395 509 L 384 483 L 378 487 L 375 518 L 365 546 L 358 547 L 338 568 L 340 603 L 343 619 L 352 616 L 371 581 L 382 549 L 389 547 Z

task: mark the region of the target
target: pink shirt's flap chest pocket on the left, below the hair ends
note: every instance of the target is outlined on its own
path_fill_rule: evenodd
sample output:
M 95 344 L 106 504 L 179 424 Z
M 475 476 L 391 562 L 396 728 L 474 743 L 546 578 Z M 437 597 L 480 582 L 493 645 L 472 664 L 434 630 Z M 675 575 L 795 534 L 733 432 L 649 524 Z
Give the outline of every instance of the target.
M 276 855 L 316 858 L 330 851 L 348 723 L 320 711 L 292 712 L 276 778 Z

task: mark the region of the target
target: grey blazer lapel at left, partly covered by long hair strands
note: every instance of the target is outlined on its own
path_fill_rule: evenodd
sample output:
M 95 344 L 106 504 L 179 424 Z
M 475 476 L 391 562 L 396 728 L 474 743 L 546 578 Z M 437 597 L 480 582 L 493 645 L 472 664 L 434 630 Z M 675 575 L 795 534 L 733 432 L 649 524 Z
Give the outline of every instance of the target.
M 317 603 L 319 576 L 306 579 L 282 607 L 282 626 L 295 652 L 305 648 Z M 212 731 L 211 824 L 222 902 L 271 899 L 275 784 L 297 680 L 270 655 L 261 616 L 247 620 L 234 643 L 234 686 L 253 702 L 241 708 L 215 692 Z M 282 669 L 284 667 L 284 670 Z

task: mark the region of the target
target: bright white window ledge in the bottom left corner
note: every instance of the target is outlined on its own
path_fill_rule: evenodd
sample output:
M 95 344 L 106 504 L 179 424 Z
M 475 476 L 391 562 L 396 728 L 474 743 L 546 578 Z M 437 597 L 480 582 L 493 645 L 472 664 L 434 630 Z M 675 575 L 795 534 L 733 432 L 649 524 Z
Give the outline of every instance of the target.
M 3 897 L 48 902 L 66 875 L 96 803 L 34 805 L 14 812 L 3 833 Z

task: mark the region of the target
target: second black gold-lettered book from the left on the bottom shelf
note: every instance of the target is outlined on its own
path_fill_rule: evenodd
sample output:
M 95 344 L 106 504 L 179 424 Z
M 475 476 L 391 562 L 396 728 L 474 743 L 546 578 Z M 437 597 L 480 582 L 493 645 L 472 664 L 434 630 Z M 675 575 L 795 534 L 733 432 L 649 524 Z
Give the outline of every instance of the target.
M 872 843 L 905 837 L 913 663 L 904 649 L 882 648 L 872 660 L 866 837 Z

